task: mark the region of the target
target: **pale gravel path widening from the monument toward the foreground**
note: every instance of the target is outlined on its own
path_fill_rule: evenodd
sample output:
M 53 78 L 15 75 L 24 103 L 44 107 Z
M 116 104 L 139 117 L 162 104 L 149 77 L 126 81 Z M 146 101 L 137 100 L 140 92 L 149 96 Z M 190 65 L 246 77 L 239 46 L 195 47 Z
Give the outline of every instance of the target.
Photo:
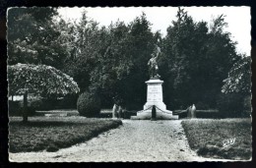
M 123 120 L 123 126 L 57 152 L 9 153 L 15 162 L 207 161 L 191 150 L 180 120 Z

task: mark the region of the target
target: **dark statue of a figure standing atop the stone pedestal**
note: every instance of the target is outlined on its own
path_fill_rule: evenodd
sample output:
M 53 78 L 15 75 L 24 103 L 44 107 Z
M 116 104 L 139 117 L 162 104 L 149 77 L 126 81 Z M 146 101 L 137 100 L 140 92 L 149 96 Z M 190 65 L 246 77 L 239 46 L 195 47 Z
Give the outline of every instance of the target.
M 158 66 L 158 62 L 157 62 L 159 55 L 160 55 L 160 47 L 158 45 L 155 45 L 155 51 L 152 54 L 152 58 L 148 62 L 151 79 L 159 79 L 160 78 L 160 75 L 158 74 L 159 66 Z

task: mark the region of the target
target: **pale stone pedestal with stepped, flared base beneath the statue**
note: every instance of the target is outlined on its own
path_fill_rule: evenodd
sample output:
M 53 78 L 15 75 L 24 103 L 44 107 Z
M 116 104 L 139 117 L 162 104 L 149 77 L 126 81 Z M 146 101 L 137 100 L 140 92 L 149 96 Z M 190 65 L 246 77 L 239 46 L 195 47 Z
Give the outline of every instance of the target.
M 143 110 L 137 112 L 137 116 L 132 116 L 134 120 L 145 120 L 152 118 L 152 107 L 156 105 L 157 119 L 178 119 L 178 116 L 173 116 L 172 111 L 166 109 L 166 105 L 162 101 L 162 86 L 163 81 L 159 79 L 151 79 L 146 82 L 148 84 L 147 89 L 147 102 L 143 107 Z

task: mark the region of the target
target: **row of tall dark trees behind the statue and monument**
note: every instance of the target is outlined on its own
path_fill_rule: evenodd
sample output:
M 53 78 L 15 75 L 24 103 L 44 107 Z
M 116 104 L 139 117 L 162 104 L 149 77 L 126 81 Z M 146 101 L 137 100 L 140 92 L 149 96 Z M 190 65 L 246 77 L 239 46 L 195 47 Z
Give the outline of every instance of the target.
M 244 56 L 224 31 L 224 16 L 208 24 L 179 8 L 162 36 L 152 31 L 144 13 L 129 24 L 99 27 L 86 12 L 72 23 L 53 8 L 14 8 L 8 12 L 8 63 L 50 65 L 71 76 L 81 91 L 100 96 L 102 106 L 115 102 L 135 109 L 146 101 L 147 63 L 158 44 L 168 108 L 192 103 L 215 108 L 224 82 L 231 84 L 225 79 Z

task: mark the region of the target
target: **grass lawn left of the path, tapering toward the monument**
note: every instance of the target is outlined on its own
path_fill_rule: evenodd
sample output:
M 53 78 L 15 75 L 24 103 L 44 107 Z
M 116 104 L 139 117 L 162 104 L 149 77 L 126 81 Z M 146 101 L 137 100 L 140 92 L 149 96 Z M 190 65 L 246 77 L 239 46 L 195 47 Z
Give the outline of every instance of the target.
M 98 134 L 117 128 L 120 120 L 85 117 L 30 117 L 23 124 L 21 117 L 10 117 L 9 151 L 57 151 Z

